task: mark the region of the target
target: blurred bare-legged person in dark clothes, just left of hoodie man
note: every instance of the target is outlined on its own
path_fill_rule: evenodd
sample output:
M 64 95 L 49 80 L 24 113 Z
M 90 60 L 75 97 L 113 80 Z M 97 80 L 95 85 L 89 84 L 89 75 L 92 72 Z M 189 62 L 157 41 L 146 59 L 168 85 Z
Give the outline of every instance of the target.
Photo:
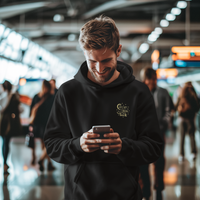
M 44 80 L 41 91 L 33 97 L 30 109 L 30 126 L 29 130 L 33 131 L 35 138 L 40 138 L 42 155 L 38 161 L 40 171 L 44 171 L 44 160 L 48 160 L 48 170 L 54 170 L 51 159 L 47 155 L 43 142 L 43 133 L 51 111 L 54 95 L 51 94 L 51 84 Z M 35 148 L 33 148 L 32 164 L 35 164 Z

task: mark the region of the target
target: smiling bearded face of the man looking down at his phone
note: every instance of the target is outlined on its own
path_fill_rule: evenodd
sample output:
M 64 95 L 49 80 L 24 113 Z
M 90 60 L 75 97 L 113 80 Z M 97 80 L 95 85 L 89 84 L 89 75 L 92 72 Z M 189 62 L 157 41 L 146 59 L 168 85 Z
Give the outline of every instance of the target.
M 121 53 L 121 45 L 117 52 L 108 48 L 99 50 L 85 50 L 84 55 L 88 65 L 88 78 L 100 84 L 111 83 L 117 73 L 117 57 Z

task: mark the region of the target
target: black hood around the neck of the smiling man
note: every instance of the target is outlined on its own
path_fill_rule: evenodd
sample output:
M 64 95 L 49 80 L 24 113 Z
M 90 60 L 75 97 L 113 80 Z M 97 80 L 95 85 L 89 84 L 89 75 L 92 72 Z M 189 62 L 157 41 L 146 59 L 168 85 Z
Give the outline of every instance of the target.
M 130 83 L 135 80 L 135 77 L 133 76 L 133 70 L 132 70 L 131 66 L 129 66 L 128 64 L 123 63 L 121 61 L 117 61 L 117 71 L 120 72 L 120 75 L 116 80 L 114 80 L 112 83 L 110 83 L 108 85 L 101 86 L 101 85 L 91 81 L 87 77 L 88 66 L 87 66 L 87 62 L 85 61 L 81 65 L 80 69 L 78 70 L 78 72 L 74 76 L 74 78 L 75 78 L 75 80 L 77 80 L 83 84 L 87 84 L 89 86 L 93 86 L 93 87 L 97 87 L 97 88 L 113 88 L 118 85 Z

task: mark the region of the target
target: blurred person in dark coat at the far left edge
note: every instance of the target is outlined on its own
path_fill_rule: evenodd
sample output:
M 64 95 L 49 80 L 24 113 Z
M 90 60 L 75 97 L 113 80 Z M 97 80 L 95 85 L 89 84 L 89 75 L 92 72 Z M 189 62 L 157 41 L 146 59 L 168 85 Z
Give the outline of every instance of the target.
M 22 126 L 19 95 L 12 92 L 12 84 L 9 81 L 4 81 L 2 87 L 4 92 L 0 97 L 0 135 L 3 139 L 4 174 L 8 174 L 9 142 L 11 137 L 21 134 Z

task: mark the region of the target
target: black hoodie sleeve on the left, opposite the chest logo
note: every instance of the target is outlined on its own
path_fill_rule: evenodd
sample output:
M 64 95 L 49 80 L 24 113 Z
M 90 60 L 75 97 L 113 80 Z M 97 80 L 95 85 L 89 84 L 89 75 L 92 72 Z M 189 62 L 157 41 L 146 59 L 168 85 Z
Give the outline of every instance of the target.
M 84 154 L 80 137 L 72 138 L 62 88 L 57 92 L 44 133 L 50 158 L 63 164 L 77 162 Z

